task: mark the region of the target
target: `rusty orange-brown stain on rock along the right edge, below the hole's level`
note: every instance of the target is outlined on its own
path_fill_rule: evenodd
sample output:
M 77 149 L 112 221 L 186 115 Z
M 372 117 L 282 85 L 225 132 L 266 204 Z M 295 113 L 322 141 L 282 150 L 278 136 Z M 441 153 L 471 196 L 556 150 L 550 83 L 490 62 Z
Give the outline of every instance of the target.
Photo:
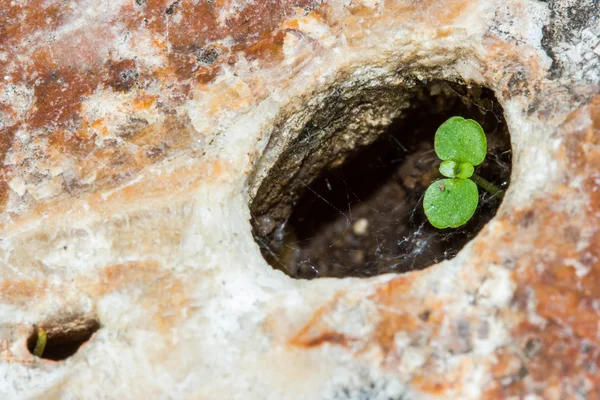
M 498 375 L 485 398 L 523 392 L 542 398 L 574 398 L 577 393 L 600 398 L 599 104 L 597 97 L 570 115 L 562 127 L 565 144 L 557 159 L 583 184 L 567 183 L 553 195 L 540 196 L 535 211 L 504 217 L 509 226 L 522 228 L 507 231 L 497 245 L 519 249 L 527 244 L 529 251 L 513 252 L 517 290 L 512 307 L 522 313 L 523 322 L 512 334 L 520 352 L 500 364 L 522 360 L 521 375 L 526 376 L 502 383 Z M 570 205 L 581 201 L 586 205 Z M 545 322 L 528 322 L 531 304 Z

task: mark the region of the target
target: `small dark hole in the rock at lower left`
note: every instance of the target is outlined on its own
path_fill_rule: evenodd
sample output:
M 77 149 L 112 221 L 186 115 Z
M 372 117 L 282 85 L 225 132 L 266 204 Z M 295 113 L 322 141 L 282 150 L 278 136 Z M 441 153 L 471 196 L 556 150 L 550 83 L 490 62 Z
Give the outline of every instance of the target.
M 96 319 L 84 319 L 41 324 L 40 327 L 46 331 L 46 347 L 40 358 L 61 361 L 75 354 L 100 329 L 100 323 Z M 27 348 L 31 354 L 37 340 L 38 329 L 34 327 L 27 338 Z

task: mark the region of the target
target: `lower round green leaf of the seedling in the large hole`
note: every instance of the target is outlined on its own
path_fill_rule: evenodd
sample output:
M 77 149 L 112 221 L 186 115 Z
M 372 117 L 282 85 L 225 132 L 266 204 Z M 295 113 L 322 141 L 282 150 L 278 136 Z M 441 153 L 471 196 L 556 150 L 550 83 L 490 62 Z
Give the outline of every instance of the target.
M 436 228 L 457 228 L 471 219 L 478 202 L 479 192 L 472 180 L 440 179 L 427 188 L 423 209 Z

